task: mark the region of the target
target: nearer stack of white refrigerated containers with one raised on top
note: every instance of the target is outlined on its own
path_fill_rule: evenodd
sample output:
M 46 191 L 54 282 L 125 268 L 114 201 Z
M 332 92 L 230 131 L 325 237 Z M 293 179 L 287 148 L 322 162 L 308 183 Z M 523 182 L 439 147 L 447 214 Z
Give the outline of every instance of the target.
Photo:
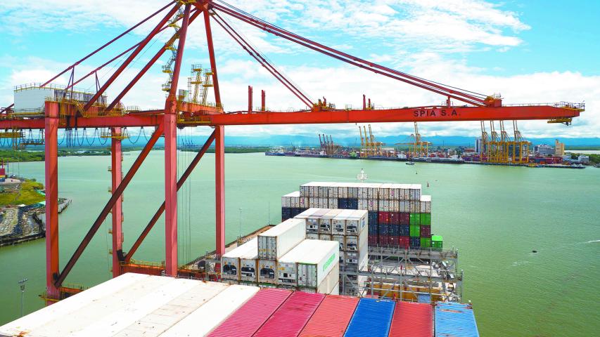
M 223 254 L 222 279 L 309 293 L 338 293 L 338 242 L 305 239 L 306 223 L 305 219 L 285 220 Z

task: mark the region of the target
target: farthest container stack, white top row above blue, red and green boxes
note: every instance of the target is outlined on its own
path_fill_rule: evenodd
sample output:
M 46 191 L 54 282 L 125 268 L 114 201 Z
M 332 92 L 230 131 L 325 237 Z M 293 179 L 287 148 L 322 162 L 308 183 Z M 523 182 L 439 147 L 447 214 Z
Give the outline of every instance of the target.
M 319 183 L 281 198 L 281 218 L 309 208 L 368 211 L 369 246 L 442 249 L 442 237 L 431 232 L 431 196 L 421 185 L 390 183 Z

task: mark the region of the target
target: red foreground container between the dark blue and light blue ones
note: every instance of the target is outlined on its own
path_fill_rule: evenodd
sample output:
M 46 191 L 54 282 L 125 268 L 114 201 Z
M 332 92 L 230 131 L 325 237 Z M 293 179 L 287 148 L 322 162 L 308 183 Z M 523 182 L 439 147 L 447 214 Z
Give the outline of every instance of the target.
M 431 305 L 404 301 L 396 303 L 389 337 L 431 337 L 432 334 Z

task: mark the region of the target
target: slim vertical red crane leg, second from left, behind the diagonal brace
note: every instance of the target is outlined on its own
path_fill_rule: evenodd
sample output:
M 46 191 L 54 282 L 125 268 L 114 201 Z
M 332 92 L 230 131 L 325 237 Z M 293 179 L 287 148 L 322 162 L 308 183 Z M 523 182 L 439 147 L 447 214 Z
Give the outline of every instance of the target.
M 121 128 L 112 128 L 111 133 L 113 138 L 110 138 L 110 178 L 112 180 L 111 191 L 115 192 L 121 179 L 123 178 L 123 161 L 122 161 L 122 146 L 121 138 L 115 137 L 120 135 Z M 120 263 L 123 256 L 123 197 L 119 197 L 113 206 L 113 277 L 121 274 Z

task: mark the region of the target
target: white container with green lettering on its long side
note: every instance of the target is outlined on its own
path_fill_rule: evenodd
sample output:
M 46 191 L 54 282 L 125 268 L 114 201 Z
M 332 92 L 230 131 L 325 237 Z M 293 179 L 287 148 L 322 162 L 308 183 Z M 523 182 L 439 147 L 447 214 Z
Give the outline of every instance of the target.
M 293 254 L 292 254 L 293 253 Z M 298 286 L 316 288 L 338 264 L 338 242 L 305 240 L 288 254 L 288 259 L 298 260 Z

